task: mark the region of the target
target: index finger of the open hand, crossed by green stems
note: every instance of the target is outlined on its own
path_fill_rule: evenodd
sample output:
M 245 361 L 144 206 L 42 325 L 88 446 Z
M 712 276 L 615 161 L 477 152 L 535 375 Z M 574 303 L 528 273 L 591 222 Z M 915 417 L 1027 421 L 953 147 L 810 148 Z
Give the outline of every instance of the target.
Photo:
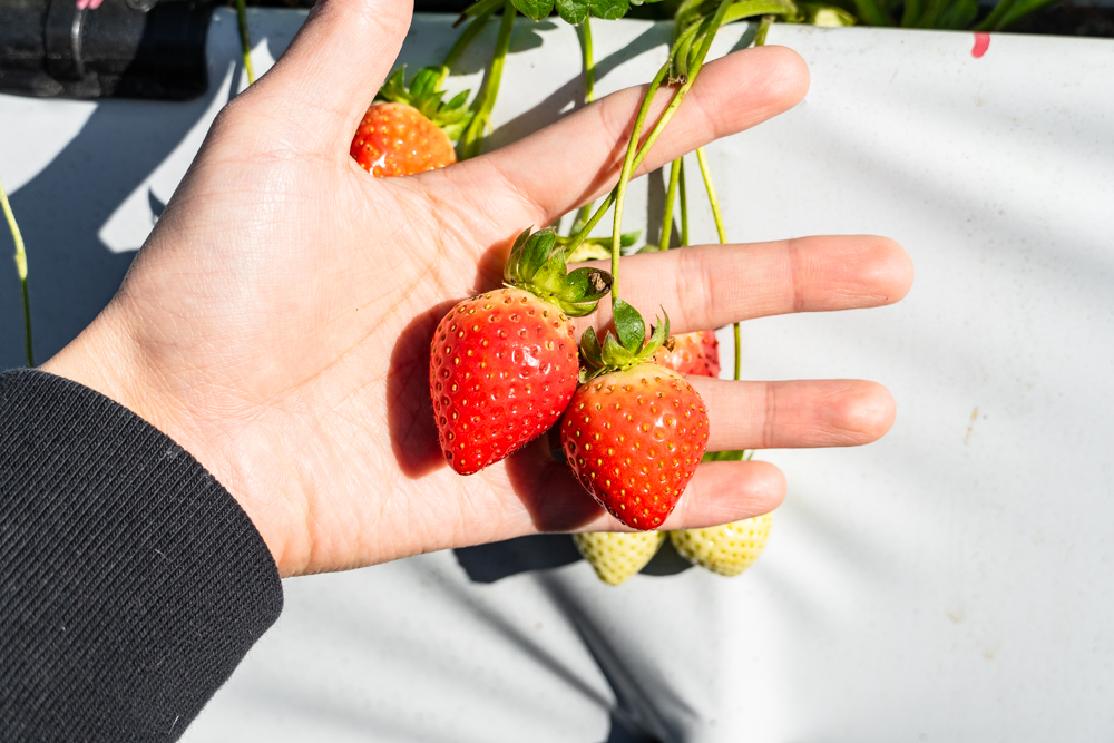
M 801 58 L 781 47 L 746 49 L 706 65 L 639 173 L 792 108 L 808 80 Z M 507 224 L 549 224 L 614 185 L 645 92 L 643 86 L 607 96 L 521 141 L 453 166 L 440 183 L 481 194 L 482 213 L 497 213 Z M 671 96 L 672 89 L 655 97 L 647 133 Z M 492 183 L 502 187 L 492 189 Z

